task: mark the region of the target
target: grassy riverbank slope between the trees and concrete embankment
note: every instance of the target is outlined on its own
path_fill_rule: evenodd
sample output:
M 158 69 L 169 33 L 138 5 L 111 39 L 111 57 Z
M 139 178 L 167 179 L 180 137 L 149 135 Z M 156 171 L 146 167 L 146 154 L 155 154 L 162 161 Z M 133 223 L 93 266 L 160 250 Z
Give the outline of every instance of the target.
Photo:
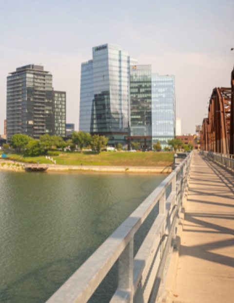
M 0 152 L 1 154 L 2 152 Z M 22 152 L 4 152 L 15 160 L 24 162 L 39 161 L 40 164 L 52 164 L 45 156 L 25 157 Z M 101 165 L 101 166 L 170 166 L 173 164 L 173 152 L 61 152 L 54 156 L 56 164 L 60 165 Z

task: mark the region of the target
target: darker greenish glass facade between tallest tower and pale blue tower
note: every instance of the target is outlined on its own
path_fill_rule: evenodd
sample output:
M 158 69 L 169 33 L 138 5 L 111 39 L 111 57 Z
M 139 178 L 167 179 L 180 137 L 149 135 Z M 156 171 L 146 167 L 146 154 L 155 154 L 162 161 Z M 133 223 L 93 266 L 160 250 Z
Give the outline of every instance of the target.
M 151 136 L 151 65 L 130 68 L 130 136 Z

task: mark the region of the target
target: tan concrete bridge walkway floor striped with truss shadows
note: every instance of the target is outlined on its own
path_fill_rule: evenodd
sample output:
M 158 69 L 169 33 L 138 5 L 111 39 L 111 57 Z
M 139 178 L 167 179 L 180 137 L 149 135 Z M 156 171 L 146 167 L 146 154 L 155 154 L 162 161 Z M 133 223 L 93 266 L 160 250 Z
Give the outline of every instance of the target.
M 234 175 L 194 152 L 174 303 L 234 302 Z

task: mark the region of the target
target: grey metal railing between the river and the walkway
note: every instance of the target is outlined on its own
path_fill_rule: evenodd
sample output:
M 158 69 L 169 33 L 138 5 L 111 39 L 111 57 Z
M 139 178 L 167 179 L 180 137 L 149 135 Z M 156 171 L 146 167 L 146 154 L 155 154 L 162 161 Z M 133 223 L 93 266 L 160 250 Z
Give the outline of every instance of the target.
M 192 155 L 188 154 L 47 303 L 87 302 L 116 261 L 118 287 L 111 303 L 161 302 Z M 157 203 L 158 215 L 134 257 L 134 235 Z

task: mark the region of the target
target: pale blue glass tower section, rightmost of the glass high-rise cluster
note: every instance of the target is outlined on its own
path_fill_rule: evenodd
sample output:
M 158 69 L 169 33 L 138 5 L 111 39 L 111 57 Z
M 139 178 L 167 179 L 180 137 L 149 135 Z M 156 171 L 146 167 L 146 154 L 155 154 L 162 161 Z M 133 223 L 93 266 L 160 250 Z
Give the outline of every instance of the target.
M 162 149 L 176 135 L 175 76 L 152 74 L 152 144 Z

